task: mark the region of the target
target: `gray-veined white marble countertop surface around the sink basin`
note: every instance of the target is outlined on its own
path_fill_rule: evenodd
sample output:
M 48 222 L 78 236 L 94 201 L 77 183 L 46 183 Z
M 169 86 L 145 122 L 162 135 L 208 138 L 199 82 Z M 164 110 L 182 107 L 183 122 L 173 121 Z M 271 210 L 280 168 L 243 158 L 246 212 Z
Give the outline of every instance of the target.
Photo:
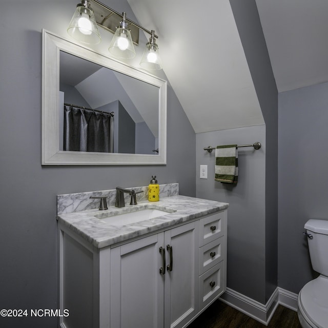
M 139 208 L 152 208 L 171 210 L 168 213 L 153 219 L 127 224 L 126 226 L 113 226 L 109 220 L 101 220 L 95 215 L 116 215 L 137 210 Z M 228 203 L 214 200 L 200 199 L 188 196 L 175 195 L 163 197 L 159 201 L 140 201 L 137 205 L 126 204 L 124 208 L 109 207 L 106 211 L 86 210 L 57 215 L 57 220 L 74 233 L 80 235 L 96 248 L 104 248 L 109 245 L 145 235 L 157 230 L 174 226 L 204 215 L 227 209 Z M 101 216 L 100 215 L 100 216 Z

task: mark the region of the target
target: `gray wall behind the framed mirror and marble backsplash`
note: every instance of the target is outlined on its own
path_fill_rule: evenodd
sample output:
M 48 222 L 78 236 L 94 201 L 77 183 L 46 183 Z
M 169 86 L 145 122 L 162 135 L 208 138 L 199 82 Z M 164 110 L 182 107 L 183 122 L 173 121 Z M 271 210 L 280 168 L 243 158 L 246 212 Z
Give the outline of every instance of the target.
M 131 17 L 126 2 L 103 2 Z M 195 196 L 195 133 L 170 86 L 166 166 L 41 166 L 41 31 L 66 36 L 77 3 L 11 0 L 0 10 L 1 309 L 58 308 L 57 194 L 145 186 L 156 175 L 159 183 L 179 182 L 181 194 Z M 6 327 L 57 323 L 0 320 Z

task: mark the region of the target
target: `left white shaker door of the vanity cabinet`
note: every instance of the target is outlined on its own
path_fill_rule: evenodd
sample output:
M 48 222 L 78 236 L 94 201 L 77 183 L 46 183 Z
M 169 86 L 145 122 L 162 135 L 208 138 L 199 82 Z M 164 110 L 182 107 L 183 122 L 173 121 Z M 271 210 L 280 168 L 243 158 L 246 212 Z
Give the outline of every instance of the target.
M 152 235 L 111 250 L 112 328 L 162 328 L 165 275 L 159 273 L 163 266 L 159 247 L 163 236 Z

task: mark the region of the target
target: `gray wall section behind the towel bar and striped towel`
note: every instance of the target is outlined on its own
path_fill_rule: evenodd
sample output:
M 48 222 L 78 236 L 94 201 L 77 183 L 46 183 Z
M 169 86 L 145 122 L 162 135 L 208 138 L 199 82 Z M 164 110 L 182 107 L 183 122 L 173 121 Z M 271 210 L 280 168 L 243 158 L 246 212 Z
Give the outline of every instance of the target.
M 211 145 L 243 145 L 260 141 L 260 150 L 238 149 L 238 183 L 214 181 Z M 197 197 L 228 202 L 228 288 L 264 303 L 265 291 L 265 126 L 196 134 Z M 208 166 L 208 179 L 199 178 Z

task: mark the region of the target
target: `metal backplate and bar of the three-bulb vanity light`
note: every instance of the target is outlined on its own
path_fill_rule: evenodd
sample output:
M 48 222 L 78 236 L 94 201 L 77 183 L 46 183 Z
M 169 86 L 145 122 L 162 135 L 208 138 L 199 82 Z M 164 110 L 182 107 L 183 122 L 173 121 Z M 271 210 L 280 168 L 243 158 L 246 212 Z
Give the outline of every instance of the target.
M 115 33 L 116 28 L 119 26 L 119 22 L 123 18 L 123 15 L 115 11 L 114 9 L 107 7 L 98 0 L 89 1 L 91 2 L 91 7 L 94 11 L 97 24 L 109 30 L 110 32 Z M 128 29 L 131 32 L 132 42 L 135 45 L 139 44 L 139 29 L 152 35 L 151 31 L 133 22 L 133 20 L 130 20 L 129 18 L 126 18 L 126 22 L 129 23 Z M 158 38 L 156 34 L 154 34 L 154 37 Z

